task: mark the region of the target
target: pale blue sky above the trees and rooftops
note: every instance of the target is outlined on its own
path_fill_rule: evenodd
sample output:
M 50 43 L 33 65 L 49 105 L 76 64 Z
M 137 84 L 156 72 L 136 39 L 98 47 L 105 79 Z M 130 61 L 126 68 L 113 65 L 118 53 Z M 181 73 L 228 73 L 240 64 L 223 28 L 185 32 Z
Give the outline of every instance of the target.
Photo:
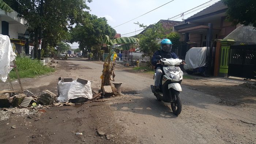
M 97 15 L 98 17 L 105 17 L 108 20 L 108 24 L 115 27 L 143 15 L 169 1 L 171 0 L 93 0 L 91 3 L 88 3 L 88 6 L 91 9 L 91 14 Z M 114 29 L 117 33 L 121 34 L 122 37 L 129 37 L 135 35 L 135 30 L 142 29 L 137 24 L 134 24 L 136 22 L 143 23 L 148 26 L 150 24 L 157 23 L 160 19 L 166 20 L 168 18 L 172 18 L 173 16 L 206 3 L 207 1 L 210 0 L 174 0 L 146 15 L 141 16 L 140 18 L 115 27 Z M 209 4 L 215 3 L 216 1 L 218 0 L 212 0 Z M 209 5 L 204 5 L 204 8 L 208 6 Z M 202 7 L 199 7 L 201 9 L 195 12 L 184 15 L 184 19 L 203 10 L 204 8 Z M 182 17 L 178 16 L 175 20 L 182 21 Z M 140 31 L 136 32 L 136 34 L 138 33 L 140 33 Z M 78 47 L 78 44 L 71 44 L 71 46 L 72 48 L 75 48 Z

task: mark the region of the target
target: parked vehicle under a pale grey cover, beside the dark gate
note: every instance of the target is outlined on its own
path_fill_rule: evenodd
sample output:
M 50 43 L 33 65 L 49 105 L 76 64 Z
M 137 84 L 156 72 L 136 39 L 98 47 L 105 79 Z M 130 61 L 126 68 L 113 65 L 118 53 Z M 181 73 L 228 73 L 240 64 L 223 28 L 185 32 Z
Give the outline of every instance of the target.
M 189 75 L 193 73 L 205 76 L 206 69 L 206 47 L 191 48 L 186 53 L 184 69 Z

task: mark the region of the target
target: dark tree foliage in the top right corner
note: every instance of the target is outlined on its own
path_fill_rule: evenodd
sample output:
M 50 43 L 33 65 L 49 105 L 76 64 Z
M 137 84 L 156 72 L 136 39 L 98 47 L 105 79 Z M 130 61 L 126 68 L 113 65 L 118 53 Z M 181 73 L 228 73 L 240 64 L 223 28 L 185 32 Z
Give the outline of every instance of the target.
M 222 0 L 227 5 L 227 18 L 233 24 L 256 27 L 256 0 Z

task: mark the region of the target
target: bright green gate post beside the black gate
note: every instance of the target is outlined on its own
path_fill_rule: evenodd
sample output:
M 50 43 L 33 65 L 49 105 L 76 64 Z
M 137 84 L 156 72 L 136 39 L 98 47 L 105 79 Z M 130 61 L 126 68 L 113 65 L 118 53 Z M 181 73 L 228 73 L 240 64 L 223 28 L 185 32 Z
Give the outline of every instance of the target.
M 219 76 L 227 77 L 227 72 L 229 69 L 229 54 L 230 46 L 236 41 L 233 39 L 223 39 L 221 40 L 221 64 L 219 67 Z

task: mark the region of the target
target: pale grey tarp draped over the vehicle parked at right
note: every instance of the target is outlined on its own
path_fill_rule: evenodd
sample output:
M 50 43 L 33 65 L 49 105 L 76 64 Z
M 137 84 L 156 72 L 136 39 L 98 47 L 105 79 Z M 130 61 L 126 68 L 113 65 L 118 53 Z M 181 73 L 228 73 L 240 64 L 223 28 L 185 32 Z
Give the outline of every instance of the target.
M 195 69 L 205 66 L 206 63 L 206 47 L 191 48 L 186 53 L 184 69 Z

